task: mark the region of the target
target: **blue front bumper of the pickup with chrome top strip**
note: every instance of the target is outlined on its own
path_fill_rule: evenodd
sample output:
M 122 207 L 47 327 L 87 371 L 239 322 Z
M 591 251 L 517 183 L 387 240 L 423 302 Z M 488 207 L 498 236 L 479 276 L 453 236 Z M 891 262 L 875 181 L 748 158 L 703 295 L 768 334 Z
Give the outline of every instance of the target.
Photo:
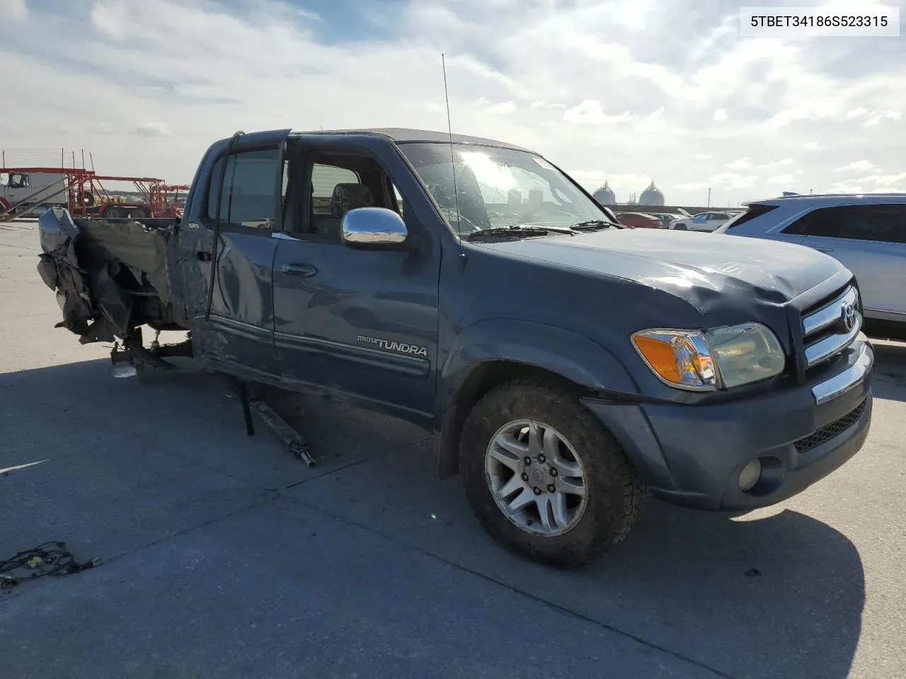
M 862 448 L 872 421 L 874 353 L 863 336 L 814 382 L 714 406 L 585 405 L 622 445 L 651 493 L 708 510 L 765 507 L 800 493 Z M 762 462 L 744 492 L 739 473 Z

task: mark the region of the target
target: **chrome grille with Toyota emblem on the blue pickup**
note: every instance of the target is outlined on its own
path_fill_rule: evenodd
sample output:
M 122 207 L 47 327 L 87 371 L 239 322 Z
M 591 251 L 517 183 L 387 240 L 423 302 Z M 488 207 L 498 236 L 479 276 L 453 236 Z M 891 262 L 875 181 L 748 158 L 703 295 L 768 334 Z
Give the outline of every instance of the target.
M 859 291 L 852 284 L 802 315 L 805 369 L 833 359 L 850 346 L 862 330 Z

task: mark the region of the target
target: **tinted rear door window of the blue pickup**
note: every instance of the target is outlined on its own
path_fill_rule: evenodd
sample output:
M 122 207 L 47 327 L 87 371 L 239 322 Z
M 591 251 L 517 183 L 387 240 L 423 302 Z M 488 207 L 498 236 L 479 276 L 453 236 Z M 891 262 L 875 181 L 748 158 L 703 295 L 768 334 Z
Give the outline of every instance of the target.
M 223 158 L 217 160 L 211 172 L 207 217 L 212 222 L 217 217 L 223 161 Z M 230 155 L 226 161 L 223 196 L 219 196 L 220 219 L 223 225 L 265 231 L 273 227 L 278 168 L 283 174 L 281 183 L 284 197 L 287 186 L 286 163 L 283 163 L 283 167 L 280 166 L 278 148 L 239 151 Z

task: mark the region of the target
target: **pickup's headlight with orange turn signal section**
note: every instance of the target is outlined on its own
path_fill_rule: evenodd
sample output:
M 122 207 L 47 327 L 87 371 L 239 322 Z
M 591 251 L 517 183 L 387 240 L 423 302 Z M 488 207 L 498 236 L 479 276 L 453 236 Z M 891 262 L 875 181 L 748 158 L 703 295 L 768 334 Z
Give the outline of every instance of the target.
M 739 387 L 783 372 L 786 356 L 760 323 L 700 330 L 642 330 L 632 344 L 671 387 L 692 391 Z

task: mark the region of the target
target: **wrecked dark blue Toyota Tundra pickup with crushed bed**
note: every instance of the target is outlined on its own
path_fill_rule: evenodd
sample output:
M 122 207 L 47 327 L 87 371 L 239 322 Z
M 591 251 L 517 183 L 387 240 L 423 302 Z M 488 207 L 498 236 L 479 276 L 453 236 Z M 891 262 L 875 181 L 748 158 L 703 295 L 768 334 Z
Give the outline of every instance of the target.
M 438 431 L 487 531 L 586 563 L 644 496 L 780 502 L 862 447 L 859 286 L 809 248 L 622 228 L 515 146 L 408 129 L 236 133 L 178 221 L 40 219 L 82 342 L 188 330 L 206 369 Z

